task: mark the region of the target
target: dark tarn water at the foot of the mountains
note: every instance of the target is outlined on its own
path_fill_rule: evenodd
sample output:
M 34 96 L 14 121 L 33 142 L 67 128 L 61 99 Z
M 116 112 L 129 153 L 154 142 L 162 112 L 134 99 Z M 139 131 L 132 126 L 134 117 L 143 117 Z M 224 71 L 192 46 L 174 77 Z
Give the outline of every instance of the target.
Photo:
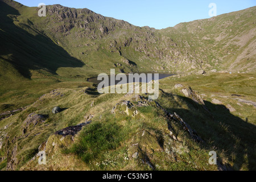
M 135 73 L 127 73 L 126 74 L 126 83 L 130 83 L 130 82 L 135 82 L 135 79 L 134 80 L 129 80 L 129 74 L 135 74 Z M 141 75 L 141 73 L 138 73 L 139 75 Z M 154 77 L 154 74 L 155 73 L 151 73 L 152 74 L 152 77 L 148 74 L 150 73 L 145 73 L 146 74 L 146 78 L 147 78 L 147 82 L 150 82 L 151 80 L 155 80 L 155 77 Z M 176 75 L 174 73 L 157 73 L 159 75 L 159 79 L 158 80 L 161 80 L 163 78 L 166 78 L 166 77 L 170 77 L 170 76 L 173 76 L 173 75 Z M 116 75 L 115 75 L 116 76 Z M 100 82 L 104 81 L 104 79 L 102 78 L 102 80 L 97 80 L 98 77 L 93 77 L 93 78 L 88 78 L 87 81 L 89 82 L 93 82 L 94 84 L 99 84 Z M 108 76 L 109 78 L 109 85 L 113 85 L 110 83 L 110 75 Z M 121 79 L 122 80 L 122 79 Z M 122 80 L 122 84 L 123 84 L 123 81 Z M 115 84 L 114 85 L 117 85 L 119 84 L 120 80 L 115 80 Z M 142 82 L 142 78 L 139 78 L 139 82 Z M 145 82 L 145 81 L 143 81 Z

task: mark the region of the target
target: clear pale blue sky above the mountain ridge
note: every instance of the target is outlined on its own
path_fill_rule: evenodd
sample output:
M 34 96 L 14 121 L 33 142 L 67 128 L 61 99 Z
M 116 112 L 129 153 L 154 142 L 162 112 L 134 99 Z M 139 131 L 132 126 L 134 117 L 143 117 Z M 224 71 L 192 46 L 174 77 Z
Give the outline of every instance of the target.
M 26 6 L 60 4 L 87 8 L 98 14 L 122 19 L 135 26 L 157 29 L 173 27 L 181 22 L 209 17 L 210 3 L 216 3 L 217 15 L 256 6 L 256 0 L 16 0 Z

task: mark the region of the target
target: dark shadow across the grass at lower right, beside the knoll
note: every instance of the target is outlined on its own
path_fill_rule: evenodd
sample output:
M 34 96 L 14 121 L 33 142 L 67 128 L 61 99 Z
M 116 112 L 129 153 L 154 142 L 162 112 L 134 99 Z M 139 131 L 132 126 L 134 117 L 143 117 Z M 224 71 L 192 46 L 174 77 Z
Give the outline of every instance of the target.
M 164 94 L 167 97 L 173 97 L 170 93 Z M 231 166 L 234 170 L 242 169 L 242 167 L 246 166 L 245 163 L 247 163 L 249 170 L 256 169 L 255 125 L 236 117 L 224 105 L 214 105 L 211 102 L 204 101 L 213 115 L 212 118 L 201 105 L 190 98 L 177 97 L 186 101 L 191 109 L 167 108 L 167 110 L 171 113 L 176 112 L 179 114 L 185 122 L 196 130 L 201 138 L 205 141 L 210 141 L 208 146 L 203 144 L 206 150 L 210 151 L 210 147 L 216 146 L 218 152 L 224 151 L 229 160 L 234 162 Z M 218 159 L 221 162 L 220 157 Z

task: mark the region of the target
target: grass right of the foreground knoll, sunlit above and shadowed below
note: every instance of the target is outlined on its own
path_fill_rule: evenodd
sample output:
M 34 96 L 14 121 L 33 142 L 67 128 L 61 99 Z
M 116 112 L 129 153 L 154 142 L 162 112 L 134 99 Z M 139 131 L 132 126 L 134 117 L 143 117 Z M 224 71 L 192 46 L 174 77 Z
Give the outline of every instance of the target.
M 255 73 L 245 75 L 216 73 L 208 76 L 166 78 L 162 82 L 167 90 L 170 90 L 170 86 L 174 86 L 176 83 L 190 85 L 200 94 L 204 94 L 201 97 L 204 98 L 205 105 L 213 114 L 215 123 L 214 126 L 210 126 L 212 123 L 209 123 L 204 117 L 200 117 L 200 114 L 191 115 L 193 106 L 189 106 L 189 111 L 184 112 L 184 119 L 189 119 L 193 123 L 191 123 L 192 127 L 201 133 L 201 136 L 208 135 L 212 140 L 210 143 L 225 153 L 225 159 L 232 161 L 234 169 L 255 168 L 256 109 L 251 104 L 236 100 L 236 98 L 242 98 L 247 101 L 255 101 Z M 242 97 L 232 96 L 232 94 Z M 214 98 L 221 101 L 222 104 L 212 104 Z M 231 105 L 236 111 L 230 113 L 226 109 L 228 105 Z M 200 120 L 203 123 L 198 123 Z

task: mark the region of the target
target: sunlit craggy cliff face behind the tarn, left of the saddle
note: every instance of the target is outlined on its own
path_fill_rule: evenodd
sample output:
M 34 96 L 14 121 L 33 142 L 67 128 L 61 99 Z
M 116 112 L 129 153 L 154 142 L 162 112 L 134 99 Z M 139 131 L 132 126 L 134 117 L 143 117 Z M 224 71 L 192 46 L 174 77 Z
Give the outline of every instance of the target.
M 79 47 L 88 53 L 102 50 L 118 53 L 119 56 L 139 65 L 138 69 L 148 71 L 183 71 L 183 67 L 191 66 L 190 63 L 200 68 L 200 63 L 197 64 L 196 59 L 189 58 L 190 51 L 183 46 L 182 40 L 175 41 L 172 36 L 159 34 L 154 28 L 136 27 L 88 9 L 76 10 L 53 5 L 47 7 L 47 10 L 51 19 L 46 18 L 40 22 L 48 25 L 42 27 L 44 32 L 58 39 L 65 48 L 74 53 L 75 57 L 79 57 L 80 52 L 73 51 L 71 47 Z M 93 46 L 93 49 L 88 46 Z M 80 59 L 86 61 L 84 57 Z M 177 70 L 179 68 L 180 70 Z

